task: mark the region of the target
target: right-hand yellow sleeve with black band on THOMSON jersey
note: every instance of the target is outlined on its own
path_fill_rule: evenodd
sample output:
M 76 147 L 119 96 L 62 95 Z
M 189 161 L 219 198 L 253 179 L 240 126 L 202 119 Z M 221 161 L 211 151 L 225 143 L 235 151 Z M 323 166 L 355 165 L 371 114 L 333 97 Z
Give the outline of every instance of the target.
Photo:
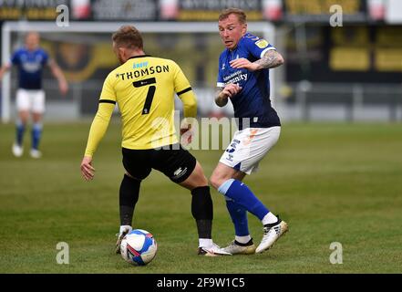
M 174 91 L 183 103 L 183 113 L 185 118 L 195 118 L 197 116 L 197 99 L 191 89 L 189 80 L 183 71 L 174 63 Z

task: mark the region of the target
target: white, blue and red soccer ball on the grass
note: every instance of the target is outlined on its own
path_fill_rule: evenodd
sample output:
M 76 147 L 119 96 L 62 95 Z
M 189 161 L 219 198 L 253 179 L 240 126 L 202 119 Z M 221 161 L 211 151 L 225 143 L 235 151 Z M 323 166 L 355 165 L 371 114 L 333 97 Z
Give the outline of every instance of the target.
M 148 231 L 134 229 L 124 236 L 120 244 L 123 259 L 134 266 L 145 266 L 155 257 L 158 245 Z

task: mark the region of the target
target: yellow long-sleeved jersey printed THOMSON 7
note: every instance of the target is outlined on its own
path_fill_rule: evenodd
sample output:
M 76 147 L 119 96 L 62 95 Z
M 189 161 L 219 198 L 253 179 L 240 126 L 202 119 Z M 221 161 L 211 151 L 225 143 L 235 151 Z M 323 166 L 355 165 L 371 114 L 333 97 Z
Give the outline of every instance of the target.
M 189 80 L 174 61 L 147 55 L 129 58 L 105 79 L 85 155 L 96 151 L 116 103 L 121 113 L 123 148 L 155 149 L 177 143 L 175 93 L 183 102 L 184 116 L 195 117 L 197 103 Z

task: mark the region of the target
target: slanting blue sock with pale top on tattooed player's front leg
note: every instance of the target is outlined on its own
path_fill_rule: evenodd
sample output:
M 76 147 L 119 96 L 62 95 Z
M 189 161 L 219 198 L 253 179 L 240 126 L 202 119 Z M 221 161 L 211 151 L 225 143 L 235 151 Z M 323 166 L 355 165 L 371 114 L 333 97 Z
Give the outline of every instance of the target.
M 218 192 L 231 198 L 235 203 L 240 204 L 244 209 L 257 216 L 260 220 L 263 220 L 263 217 L 270 212 L 263 203 L 257 199 L 247 185 L 240 181 L 233 179 L 228 180 L 222 183 Z

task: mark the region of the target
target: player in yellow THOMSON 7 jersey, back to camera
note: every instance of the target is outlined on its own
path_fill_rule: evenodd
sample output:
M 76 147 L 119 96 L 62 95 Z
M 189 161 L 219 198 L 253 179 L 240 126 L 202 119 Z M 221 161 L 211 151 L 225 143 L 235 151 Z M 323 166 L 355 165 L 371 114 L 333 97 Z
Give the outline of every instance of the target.
M 199 255 L 231 255 L 211 239 L 213 207 L 208 181 L 201 164 L 181 147 L 175 135 L 175 92 L 183 103 L 185 118 L 197 114 L 197 102 L 188 79 L 172 60 L 145 55 L 142 37 L 134 26 L 121 26 L 112 40 L 121 66 L 111 71 L 104 82 L 81 173 L 87 181 L 93 179 L 92 158 L 118 103 L 126 173 L 119 190 L 120 230 L 116 252 L 119 253 L 121 239 L 132 230 L 139 185 L 155 169 L 191 191 L 191 214 L 197 224 Z M 180 132 L 190 128 L 191 124 L 183 123 Z

